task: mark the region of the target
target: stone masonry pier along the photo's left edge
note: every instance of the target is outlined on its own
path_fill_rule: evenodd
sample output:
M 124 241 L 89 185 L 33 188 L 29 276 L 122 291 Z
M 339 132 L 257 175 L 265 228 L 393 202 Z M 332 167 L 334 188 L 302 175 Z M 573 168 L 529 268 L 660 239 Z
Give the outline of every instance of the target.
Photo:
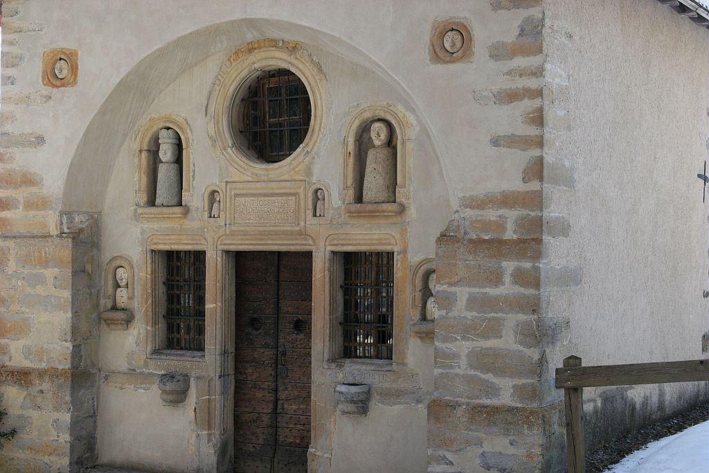
M 49 152 L 37 110 L 55 91 L 41 85 L 41 55 L 23 50 L 45 25 L 23 19 L 24 1 L 1 3 L 0 408 L 18 435 L 0 470 L 69 472 L 70 458 L 94 455 L 97 227 L 60 234 L 59 195 L 23 166 Z

